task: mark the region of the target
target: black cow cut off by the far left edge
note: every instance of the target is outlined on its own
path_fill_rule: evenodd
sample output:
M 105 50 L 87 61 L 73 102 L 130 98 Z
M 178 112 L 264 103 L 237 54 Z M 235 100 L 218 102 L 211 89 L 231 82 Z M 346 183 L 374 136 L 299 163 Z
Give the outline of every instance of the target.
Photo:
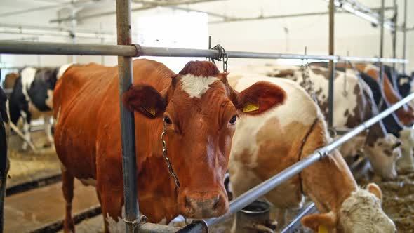
M 6 179 L 8 173 L 7 142 L 10 128 L 8 126 L 7 98 L 0 87 L 0 232 L 4 225 L 4 197 L 6 195 Z

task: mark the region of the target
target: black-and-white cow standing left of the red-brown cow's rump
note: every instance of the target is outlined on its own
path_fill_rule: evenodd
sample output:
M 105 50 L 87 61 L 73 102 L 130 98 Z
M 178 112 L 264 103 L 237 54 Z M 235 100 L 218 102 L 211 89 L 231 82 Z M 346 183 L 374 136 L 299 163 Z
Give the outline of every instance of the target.
M 10 96 L 9 109 L 13 124 L 17 124 L 20 117 L 23 119 L 23 133 L 30 140 L 30 122 L 32 119 L 44 119 L 45 131 L 50 144 L 53 144 L 52 114 L 53 90 L 56 81 L 72 64 L 62 65 L 58 68 L 26 67 L 20 71 Z M 27 149 L 24 142 L 22 149 Z

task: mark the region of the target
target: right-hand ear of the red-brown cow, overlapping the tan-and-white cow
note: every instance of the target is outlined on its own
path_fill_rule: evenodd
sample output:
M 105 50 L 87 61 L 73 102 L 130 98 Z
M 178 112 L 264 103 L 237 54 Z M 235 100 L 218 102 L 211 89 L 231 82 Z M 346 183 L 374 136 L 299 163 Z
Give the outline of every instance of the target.
M 267 81 L 258 81 L 237 94 L 234 106 L 241 114 L 257 115 L 281 105 L 286 92 L 280 86 Z

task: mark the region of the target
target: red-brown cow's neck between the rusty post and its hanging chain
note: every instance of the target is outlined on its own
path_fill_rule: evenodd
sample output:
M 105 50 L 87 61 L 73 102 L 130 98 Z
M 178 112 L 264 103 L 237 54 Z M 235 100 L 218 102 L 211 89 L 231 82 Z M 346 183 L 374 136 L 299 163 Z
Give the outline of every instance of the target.
M 135 120 L 135 124 L 137 123 Z M 166 162 L 162 157 L 160 140 L 162 120 L 155 119 L 150 123 L 138 123 L 137 128 L 140 128 L 140 132 L 154 133 L 145 136 L 136 133 L 138 135 L 137 163 L 140 211 L 144 214 L 151 213 L 151 216 L 154 216 L 149 219 L 150 222 L 159 222 L 163 219 L 170 221 L 179 214 L 177 192 L 173 178 L 169 175 Z

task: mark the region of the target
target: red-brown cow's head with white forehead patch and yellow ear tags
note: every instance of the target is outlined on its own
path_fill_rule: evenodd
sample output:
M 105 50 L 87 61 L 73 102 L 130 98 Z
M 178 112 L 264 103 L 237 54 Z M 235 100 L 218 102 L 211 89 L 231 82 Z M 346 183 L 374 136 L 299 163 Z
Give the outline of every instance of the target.
M 261 114 L 280 105 L 286 93 L 267 82 L 237 93 L 227 83 L 227 73 L 212 62 L 189 62 L 171 78 L 161 93 L 151 86 L 133 86 L 123 102 L 166 122 L 168 157 L 180 181 L 180 213 L 189 218 L 222 215 L 229 207 L 224 178 L 239 115 Z

